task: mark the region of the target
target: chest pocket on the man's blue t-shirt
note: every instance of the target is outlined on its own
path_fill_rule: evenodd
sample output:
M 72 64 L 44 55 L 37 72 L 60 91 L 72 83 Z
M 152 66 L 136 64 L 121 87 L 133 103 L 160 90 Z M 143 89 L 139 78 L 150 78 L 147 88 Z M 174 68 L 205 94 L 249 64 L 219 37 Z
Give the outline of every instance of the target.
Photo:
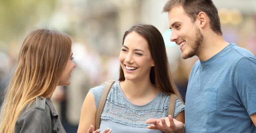
M 203 111 L 210 114 L 216 111 L 218 87 L 205 87 L 203 95 Z

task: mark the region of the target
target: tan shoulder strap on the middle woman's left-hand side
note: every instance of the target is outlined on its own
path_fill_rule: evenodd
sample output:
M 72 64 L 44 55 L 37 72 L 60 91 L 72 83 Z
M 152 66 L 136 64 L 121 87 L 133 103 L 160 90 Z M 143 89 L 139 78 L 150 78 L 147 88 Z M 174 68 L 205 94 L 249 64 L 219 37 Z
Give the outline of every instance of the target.
M 95 130 L 97 130 L 97 129 L 100 128 L 100 116 L 101 116 L 103 107 L 104 107 L 104 105 L 105 105 L 105 102 L 106 102 L 108 93 L 109 93 L 109 91 L 110 91 L 110 89 L 111 89 L 111 86 L 112 86 L 112 84 L 113 84 L 114 82 L 115 82 L 115 81 L 109 81 L 109 82 L 107 82 L 107 84 L 105 85 L 104 90 L 103 90 L 103 92 L 102 92 L 102 95 L 101 95 L 101 97 L 100 97 L 99 105 L 98 105 L 97 112 L 96 112 Z

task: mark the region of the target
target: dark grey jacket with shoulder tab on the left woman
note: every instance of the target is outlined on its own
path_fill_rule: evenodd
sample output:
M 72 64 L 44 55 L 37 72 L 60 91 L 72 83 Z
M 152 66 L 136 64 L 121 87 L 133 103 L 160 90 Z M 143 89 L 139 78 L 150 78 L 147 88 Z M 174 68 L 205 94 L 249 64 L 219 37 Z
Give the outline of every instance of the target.
M 66 133 L 51 100 L 37 97 L 23 109 L 16 123 L 14 133 Z

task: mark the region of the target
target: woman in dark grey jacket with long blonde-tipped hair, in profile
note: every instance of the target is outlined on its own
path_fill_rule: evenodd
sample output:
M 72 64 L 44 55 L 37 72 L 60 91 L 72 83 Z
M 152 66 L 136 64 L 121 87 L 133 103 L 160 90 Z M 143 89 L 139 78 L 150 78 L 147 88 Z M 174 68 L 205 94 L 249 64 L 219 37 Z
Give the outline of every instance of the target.
M 25 38 L 17 68 L 1 108 L 1 133 L 65 132 L 50 98 L 56 86 L 70 84 L 71 39 L 56 30 L 37 29 Z

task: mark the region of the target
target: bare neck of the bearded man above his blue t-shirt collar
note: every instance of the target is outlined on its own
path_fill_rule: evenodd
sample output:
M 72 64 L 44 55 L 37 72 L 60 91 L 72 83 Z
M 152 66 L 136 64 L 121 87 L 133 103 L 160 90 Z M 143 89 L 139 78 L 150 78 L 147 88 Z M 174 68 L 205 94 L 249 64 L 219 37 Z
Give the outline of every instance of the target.
M 204 41 L 198 50 L 199 52 L 197 56 L 199 57 L 200 61 L 206 61 L 213 57 L 215 54 L 219 53 L 227 45 L 229 45 L 229 43 L 226 42 L 221 35 L 217 35 L 215 33 L 210 35 L 206 34 L 204 36 Z

